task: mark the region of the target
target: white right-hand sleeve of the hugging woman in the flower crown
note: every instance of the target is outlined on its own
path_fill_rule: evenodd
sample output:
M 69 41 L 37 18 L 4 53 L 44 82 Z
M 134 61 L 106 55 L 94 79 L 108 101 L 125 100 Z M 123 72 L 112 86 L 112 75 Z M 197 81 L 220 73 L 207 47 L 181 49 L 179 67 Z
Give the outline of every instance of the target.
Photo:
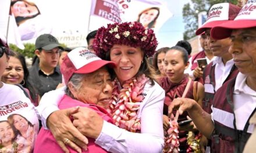
M 164 90 L 151 92 L 141 111 L 141 133 L 131 133 L 105 122 L 95 143 L 110 152 L 162 152 Z

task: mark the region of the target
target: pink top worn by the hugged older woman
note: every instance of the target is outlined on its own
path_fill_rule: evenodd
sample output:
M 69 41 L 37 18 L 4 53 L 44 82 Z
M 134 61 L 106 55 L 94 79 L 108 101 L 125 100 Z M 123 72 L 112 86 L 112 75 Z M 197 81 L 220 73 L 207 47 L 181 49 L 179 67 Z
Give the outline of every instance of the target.
M 71 108 L 71 107 L 88 107 L 91 108 L 92 110 L 96 111 L 102 119 L 104 119 L 107 122 L 113 123 L 113 119 L 111 116 L 108 114 L 108 112 L 102 108 L 98 107 L 97 105 L 93 104 L 85 104 L 81 101 L 74 100 L 71 97 L 63 96 L 62 100 L 59 103 L 59 109 L 63 110 L 66 108 Z M 94 143 L 94 139 L 88 138 L 88 147 L 87 151 L 82 150 L 82 152 L 107 152 L 103 148 L 99 147 L 99 145 Z M 72 148 L 67 147 L 70 152 L 76 152 Z M 56 142 L 54 136 L 52 135 L 50 130 L 45 130 L 41 129 L 40 132 L 38 133 L 37 136 L 37 141 L 35 141 L 35 147 L 34 147 L 34 152 L 63 152 L 61 147 L 59 147 L 58 143 Z

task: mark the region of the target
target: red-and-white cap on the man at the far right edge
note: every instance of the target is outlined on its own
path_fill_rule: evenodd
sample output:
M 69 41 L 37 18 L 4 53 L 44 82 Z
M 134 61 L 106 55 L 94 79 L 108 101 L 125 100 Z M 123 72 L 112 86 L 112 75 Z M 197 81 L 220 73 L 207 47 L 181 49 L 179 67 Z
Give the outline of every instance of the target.
M 256 2 L 247 1 L 233 21 L 212 28 L 211 37 L 214 39 L 224 39 L 230 37 L 234 29 L 252 27 L 256 27 Z

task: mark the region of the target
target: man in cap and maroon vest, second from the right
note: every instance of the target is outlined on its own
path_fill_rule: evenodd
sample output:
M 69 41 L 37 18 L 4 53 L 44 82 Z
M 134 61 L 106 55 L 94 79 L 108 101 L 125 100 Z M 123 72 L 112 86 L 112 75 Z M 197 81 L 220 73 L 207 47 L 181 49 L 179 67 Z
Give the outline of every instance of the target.
M 232 54 L 230 54 L 229 46 L 231 40 L 214 39 L 210 36 L 211 28 L 222 23 L 234 20 L 241 8 L 231 3 L 218 3 L 211 7 L 208 12 L 207 21 L 195 32 L 200 35 L 205 32 L 207 43 L 212 54 L 216 56 L 215 60 L 209 63 L 204 70 L 203 82 L 205 88 L 205 98 L 202 101 L 202 108 L 211 113 L 212 100 L 215 92 L 229 79 L 234 78 L 238 71 L 234 65 Z M 198 68 L 201 69 L 201 68 Z M 194 73 L 197 71 L 194 71 Z

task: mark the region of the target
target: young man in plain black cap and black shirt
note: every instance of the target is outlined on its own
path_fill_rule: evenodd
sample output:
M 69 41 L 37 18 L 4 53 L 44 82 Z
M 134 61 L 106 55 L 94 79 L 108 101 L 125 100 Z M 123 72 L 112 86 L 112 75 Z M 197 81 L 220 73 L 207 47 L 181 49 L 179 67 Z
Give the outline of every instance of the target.
M 41 97 L 44 93 L 55 90 L 62 82 L 62 75 L 57 66 L 60 50 L 63 48 L 51 34 L 42 34 L 35 41 L 37 59 L 29 68 L 29 79 Z

